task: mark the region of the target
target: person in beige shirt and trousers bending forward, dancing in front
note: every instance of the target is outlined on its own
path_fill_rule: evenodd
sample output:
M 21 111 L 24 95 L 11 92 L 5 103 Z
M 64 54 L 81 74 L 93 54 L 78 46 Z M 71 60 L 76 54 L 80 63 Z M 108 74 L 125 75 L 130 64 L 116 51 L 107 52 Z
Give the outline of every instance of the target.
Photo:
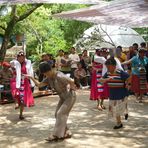
M 48 62 L 40 63 L 39 69 L 40 72 L 46 76 L 42 82 L 39 83 L 33 77 L 26 76 L 31 78 L 38 87 L 50 84 L 51 88 L 55 89 L 60 97 L 55 112 L 56 123 L 54 132 L 53 135 L 49 136 L 46 140 L 52 142 L 70 138 L 71 134 L 68 133 L 67 119 L 76 100 L 75 84 L 71 78 L 62 72 L 51 69 Z

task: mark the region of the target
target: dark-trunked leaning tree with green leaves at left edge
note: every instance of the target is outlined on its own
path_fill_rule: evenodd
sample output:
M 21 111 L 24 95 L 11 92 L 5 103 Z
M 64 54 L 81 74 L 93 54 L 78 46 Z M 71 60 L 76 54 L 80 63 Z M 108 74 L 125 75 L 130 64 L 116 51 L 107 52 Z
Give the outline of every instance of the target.
M 7 16 L 1 16 L 1 20 L 3 21 L 0 28 L 2 29 L 1 34 L 3 36 L 3 42 L 0 49 L 0 62 L 2 62 L 5 58 L 6 49 L 10 42 L 11 35 L 13 33 L 13 29 L 18 22 L 21 22 L 25 18 L 27 18 L 31 13 L 33 13 L 38 7 L 42 4 L 35 5 L 13 5 L 11 6 L 11 12 L 7 14 Z M 1 7 L 2 9 L 2 7 Z

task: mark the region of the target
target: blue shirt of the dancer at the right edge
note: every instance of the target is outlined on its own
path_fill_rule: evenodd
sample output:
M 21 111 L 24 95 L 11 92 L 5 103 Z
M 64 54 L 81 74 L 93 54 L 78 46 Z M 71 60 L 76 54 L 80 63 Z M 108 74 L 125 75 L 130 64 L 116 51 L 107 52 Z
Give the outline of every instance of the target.
M 144 58 L 140 58 L 139 55 L 134 56 L 131 59 L 132 64 L 132 74 L 139 75 L 139 68 L 145 67 L 148 63 L 148 58 L 144 56 Z

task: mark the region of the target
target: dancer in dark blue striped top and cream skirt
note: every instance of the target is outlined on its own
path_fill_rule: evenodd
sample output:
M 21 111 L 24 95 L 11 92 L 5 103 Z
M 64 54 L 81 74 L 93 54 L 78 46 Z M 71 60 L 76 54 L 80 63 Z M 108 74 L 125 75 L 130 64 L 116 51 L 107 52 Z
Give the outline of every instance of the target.
M 101 82 L 107 82 L 109 87 L 109 113 L 116 117 L 117 125 L 114 129 L 122 128 L 121 115 L 127 109 L 126 99 L 128 91 L 125 88 L 125 81 L 128 79 L 128 73 L 122 70 L 116 70 L 116 60 L 112 57 L 105 62 L 108 72 L 105 73 Z M 127 114 L 125 115 L 127 118 Z

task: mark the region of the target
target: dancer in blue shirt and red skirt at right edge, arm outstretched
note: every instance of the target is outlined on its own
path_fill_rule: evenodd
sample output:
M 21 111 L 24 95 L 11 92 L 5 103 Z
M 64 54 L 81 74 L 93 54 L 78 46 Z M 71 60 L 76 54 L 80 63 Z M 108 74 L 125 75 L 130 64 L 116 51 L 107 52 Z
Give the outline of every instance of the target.
M 145 68 L 148 64 L 148 58 L 145 56 L 146 50 L 144 48 L 140 48 L 138 51 L 136 56 L 122 64 L 131 64 L 131 90 L 135 93 L 136 100 L 142 103 L 143 94 L 148 92 Z

